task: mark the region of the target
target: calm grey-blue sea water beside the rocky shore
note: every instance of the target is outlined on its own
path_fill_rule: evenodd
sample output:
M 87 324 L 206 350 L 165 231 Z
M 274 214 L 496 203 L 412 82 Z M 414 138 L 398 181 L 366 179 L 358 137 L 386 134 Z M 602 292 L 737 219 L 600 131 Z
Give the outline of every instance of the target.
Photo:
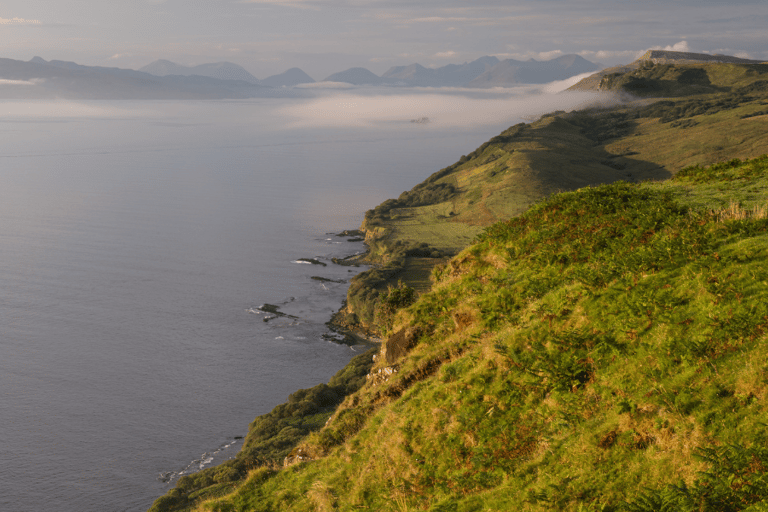
M 0 103 L 0 510 L 146 510 L 234 455 L 355 354 L 322 337 L 347 285 L 310 279 L 353 273 L 297 258 L 518 121 L 344 94 Z

